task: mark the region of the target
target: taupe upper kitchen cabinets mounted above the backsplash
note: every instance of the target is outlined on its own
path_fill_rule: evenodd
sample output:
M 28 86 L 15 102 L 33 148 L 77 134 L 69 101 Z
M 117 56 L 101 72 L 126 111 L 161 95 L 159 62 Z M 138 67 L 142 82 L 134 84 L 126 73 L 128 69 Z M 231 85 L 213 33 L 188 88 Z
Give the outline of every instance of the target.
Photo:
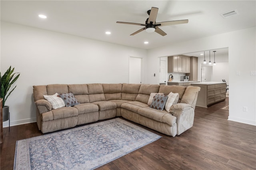
M 168 73 L 190 73 L 190 57 L 186 55 L 169 56 Z

